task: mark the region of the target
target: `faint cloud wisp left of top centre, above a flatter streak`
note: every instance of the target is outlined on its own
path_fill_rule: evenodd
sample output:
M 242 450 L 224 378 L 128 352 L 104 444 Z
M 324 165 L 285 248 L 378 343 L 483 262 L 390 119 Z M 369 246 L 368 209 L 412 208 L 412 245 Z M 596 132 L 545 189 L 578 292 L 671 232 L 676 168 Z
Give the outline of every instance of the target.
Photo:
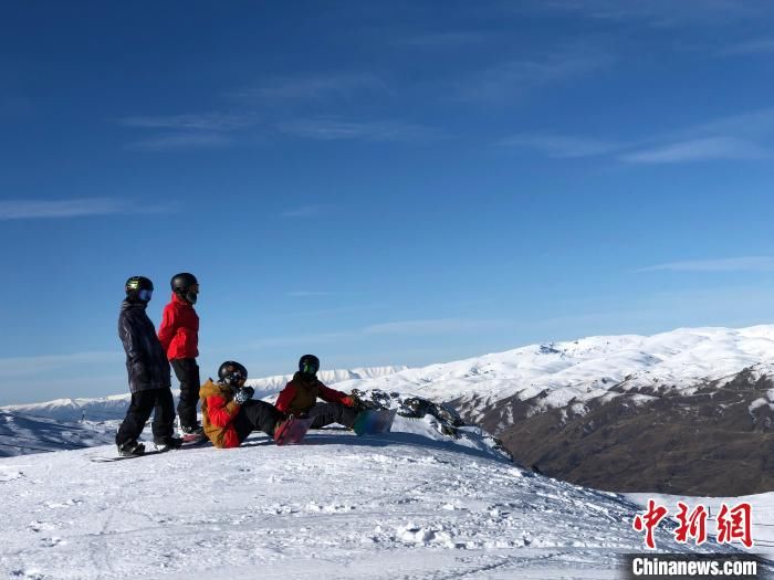
M 387 85 L 373 73 L 330 73 L 278 76 L 231 91 L 224 96 L 239 101 L 285 102 L 351 99 L 364 93 L 387 92 Z

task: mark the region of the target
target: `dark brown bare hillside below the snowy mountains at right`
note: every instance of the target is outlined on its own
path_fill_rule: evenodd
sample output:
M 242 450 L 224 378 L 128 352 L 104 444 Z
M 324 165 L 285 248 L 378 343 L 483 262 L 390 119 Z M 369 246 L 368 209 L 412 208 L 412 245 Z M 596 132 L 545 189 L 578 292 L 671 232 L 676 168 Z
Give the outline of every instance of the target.
M 640 388 L 541 413 L 540 396 L 502 400 L 480 423 L 516 461 L 579 485 L 694 496 L 774 489 L 772 379 L 744 370 L 697 387 Z M 514 422 L 499 429 L 506 410 Z

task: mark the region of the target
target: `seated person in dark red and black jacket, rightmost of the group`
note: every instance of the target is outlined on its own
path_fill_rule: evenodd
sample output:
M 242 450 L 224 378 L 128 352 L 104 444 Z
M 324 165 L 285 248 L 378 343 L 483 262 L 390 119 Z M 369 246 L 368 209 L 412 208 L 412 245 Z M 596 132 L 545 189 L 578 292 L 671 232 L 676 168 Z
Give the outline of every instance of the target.
M 299 372 L 276 399 L 274 405 L 286 415 L 312 418 L 311 429 L 320 429 L 331 423 L 352 428 L 357 416 L 357 401 L 342 391 L 331 389 L 317 379 L 320 359 L 304 355 L 299 360 Z M 317 398 L 326 401 L 317 403 Z

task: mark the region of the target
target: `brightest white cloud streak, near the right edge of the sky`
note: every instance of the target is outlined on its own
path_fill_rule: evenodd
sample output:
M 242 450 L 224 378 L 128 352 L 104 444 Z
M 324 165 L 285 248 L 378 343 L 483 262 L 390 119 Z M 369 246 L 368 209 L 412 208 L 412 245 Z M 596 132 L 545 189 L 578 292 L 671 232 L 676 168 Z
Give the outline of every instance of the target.
M 629 164 L 679 164 L 715 159 L 763 159 L 767 157 L 772 157 L 772 151 L 752 141 L 735 137 L 707 137 L 641 149 L 623 155 L 620 159 Z

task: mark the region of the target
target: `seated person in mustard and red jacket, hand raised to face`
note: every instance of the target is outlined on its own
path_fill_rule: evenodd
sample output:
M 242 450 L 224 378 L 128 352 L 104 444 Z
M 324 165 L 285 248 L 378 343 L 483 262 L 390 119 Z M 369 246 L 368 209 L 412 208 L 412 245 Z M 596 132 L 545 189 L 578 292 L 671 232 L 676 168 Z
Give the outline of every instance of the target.
M 201 386 L 201 418 L 205 434 L 216 447 L 238 447 L 258 430 L 270 437 L 284 420 L 274 405 L 253 401 L 254 389 L 245 387 L 248 369 L 227 360 L 218 369 L 218 382 L 212 379 Z

